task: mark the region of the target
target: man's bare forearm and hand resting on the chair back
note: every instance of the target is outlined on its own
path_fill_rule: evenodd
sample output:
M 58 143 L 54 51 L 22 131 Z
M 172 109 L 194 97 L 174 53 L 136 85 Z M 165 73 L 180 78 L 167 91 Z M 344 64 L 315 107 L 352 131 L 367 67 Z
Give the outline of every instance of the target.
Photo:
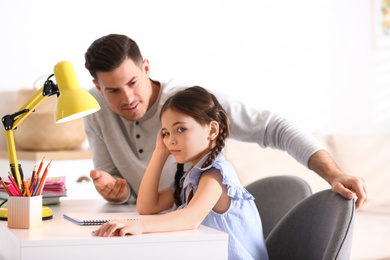
M 310 157 L 309 168 L 324 178 L 335 193 L 347 199 L 353 199 L 355 193 L 356 209 L 367 201 L 364 179 L 345 174 L 325 150 L 319 150 Z

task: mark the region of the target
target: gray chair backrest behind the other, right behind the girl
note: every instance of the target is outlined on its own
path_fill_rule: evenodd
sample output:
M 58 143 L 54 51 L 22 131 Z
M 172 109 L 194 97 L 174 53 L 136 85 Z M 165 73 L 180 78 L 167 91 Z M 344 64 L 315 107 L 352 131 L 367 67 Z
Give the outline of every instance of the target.
M 310 186 L 296 176 L 272 176 L 257 180 L 246 189 L 255 197 L 264 238 L 298 202 L 312 194 Z

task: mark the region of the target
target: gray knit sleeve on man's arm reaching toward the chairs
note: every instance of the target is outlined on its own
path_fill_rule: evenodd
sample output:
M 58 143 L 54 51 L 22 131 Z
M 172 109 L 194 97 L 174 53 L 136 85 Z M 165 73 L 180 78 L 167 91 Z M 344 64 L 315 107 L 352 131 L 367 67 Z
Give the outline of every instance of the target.
M 235 140 L 286 151 L 305 167 L 308 167 L 312 154 L 324 149 L 312 134 L 291 120 L 268 110 L 255 109 L 225 95 L 219 94 L 218 99 L 229 115 L 230 137 Z

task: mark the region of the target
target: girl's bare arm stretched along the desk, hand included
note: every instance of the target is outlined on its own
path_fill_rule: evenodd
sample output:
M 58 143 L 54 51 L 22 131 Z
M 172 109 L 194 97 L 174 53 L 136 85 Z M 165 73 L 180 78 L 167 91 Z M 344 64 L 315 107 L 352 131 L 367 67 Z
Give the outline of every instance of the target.
M 187 207 L 164 215 L 137 221 L 110 221 L 101 226 L 96 236 L 142 234 L 149 232 L 178 231 L 197 228 L 213 209 L 219 213 L 230 206 L 227 188 L 222 184 L 220 172 L 212 168 L 205 171 L 199 187 Z

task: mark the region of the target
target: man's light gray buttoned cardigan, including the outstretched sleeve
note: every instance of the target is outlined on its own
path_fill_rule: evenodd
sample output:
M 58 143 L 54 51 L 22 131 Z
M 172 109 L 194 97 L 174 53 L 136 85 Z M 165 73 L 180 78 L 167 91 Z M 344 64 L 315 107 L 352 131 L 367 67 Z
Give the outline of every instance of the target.
M 132 194 L 138 194 L 161 128 L 160 109 L 168 97 L 185 87 L 189 86 L 176 80 L 161 83 L 157 101 L 138 121 L 129 121 L 112 112 L 100 92 L 91 89 L 90 93 L 101 106 L 97 113 L 84 117 L 95 170 L 126 179 Z M 323 149 L 311 134 L 279 115 L 215 94 L 231 120 L 231 138 L 287 151 L 306 167 L 311 155 Z M 175 172 L 176 161 L 170 156 L 161 175 L 160 188 L 170 185 Z

